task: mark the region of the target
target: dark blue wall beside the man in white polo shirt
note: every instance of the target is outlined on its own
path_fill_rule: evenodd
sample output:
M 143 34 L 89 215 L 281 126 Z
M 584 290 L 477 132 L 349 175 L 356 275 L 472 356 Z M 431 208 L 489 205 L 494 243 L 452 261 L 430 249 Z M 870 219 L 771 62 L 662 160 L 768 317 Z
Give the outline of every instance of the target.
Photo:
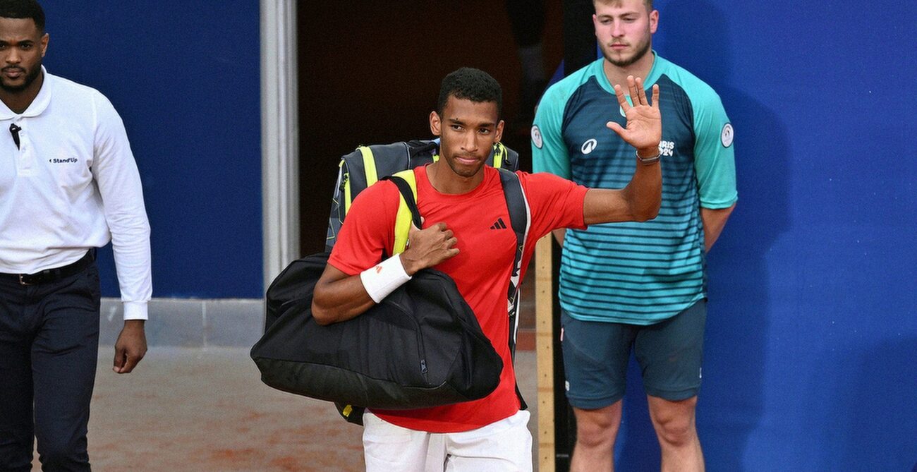
M 45 66 L 105 93 L 127 126 L 153 296 L 261 297 L 258 2 L 41 3 Z M 117 296 L 110 247 L 99 262 Z

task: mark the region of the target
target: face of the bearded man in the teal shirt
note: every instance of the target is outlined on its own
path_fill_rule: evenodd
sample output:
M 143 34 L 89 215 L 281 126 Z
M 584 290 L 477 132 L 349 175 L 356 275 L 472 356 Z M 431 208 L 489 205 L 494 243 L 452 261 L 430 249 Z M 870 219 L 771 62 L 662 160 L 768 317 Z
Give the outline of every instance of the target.
M 596 3 L 592 23 L 605 59 L 617 67 L 627 67 L 646 56 L 652 47 L 659 12 L 646 11 L 643 0 Z

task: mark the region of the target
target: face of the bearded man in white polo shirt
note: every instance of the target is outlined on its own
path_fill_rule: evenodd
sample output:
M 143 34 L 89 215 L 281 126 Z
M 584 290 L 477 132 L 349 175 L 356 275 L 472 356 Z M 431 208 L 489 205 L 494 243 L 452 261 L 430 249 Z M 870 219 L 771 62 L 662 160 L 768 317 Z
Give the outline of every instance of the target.
M 31 18 L 0 17 L 0 87 L 6 92 L 26 90 L 41 73 L 41 58 L 48 49 Z

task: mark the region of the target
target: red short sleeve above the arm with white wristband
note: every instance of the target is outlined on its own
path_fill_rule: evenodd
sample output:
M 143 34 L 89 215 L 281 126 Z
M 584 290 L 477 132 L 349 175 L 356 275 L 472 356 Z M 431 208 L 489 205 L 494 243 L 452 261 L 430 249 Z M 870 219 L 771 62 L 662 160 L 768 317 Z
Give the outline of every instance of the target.
M 377 264 L 394 244 L 398 188 L 379 181 L 359 192 L 337 233 L 328 263 L 348 275 Z

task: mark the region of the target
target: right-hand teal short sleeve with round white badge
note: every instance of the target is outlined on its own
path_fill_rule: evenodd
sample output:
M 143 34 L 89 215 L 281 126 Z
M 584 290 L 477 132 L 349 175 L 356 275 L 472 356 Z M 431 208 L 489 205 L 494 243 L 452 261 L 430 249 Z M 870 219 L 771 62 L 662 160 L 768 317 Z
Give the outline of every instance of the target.
M 738 200 L 735 189 L 735 131 L 720 97 L 709 90 L 694 108 L 694 170 L 703 208 L 728 208 Z

